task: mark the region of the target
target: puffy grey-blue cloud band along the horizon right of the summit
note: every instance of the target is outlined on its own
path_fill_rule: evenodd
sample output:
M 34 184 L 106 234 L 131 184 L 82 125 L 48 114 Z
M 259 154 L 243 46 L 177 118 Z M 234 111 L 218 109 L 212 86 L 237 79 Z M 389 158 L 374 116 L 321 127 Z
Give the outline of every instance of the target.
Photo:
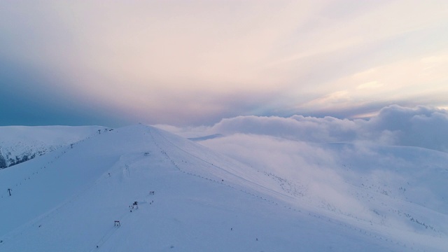
M 159 125 L 164 127 L 163 125 Z M 448 112 L 428 106 L 386 106 L 370 119 L 237 116 L 213 126 L 165 129 L 187 137 L 251 134 L 314 143 L 366 142 L 448 151 Z

